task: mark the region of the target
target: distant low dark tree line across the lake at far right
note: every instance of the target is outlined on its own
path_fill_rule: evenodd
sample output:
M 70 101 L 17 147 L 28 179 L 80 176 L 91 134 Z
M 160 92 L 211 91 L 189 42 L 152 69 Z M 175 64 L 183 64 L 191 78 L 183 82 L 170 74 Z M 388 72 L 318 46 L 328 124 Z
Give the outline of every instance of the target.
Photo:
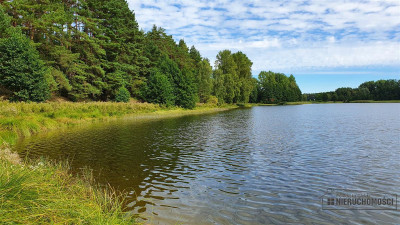
M 331 92 L 304 94 L 307 101 L 400 100 L 400 80 L 378 80 L 362 83 L 358 88 L 343 87 Z

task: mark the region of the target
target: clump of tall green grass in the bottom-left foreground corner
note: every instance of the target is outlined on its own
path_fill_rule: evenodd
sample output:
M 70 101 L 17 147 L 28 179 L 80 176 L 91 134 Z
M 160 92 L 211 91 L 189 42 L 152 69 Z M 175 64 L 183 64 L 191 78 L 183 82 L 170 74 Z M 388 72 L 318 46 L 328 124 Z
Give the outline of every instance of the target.
M 73 177 L 68 166 L 46 160 L 21 163 L 0 152 L 2 224 L 134 224 L 122 196 L 94 184 L 90 173 Z

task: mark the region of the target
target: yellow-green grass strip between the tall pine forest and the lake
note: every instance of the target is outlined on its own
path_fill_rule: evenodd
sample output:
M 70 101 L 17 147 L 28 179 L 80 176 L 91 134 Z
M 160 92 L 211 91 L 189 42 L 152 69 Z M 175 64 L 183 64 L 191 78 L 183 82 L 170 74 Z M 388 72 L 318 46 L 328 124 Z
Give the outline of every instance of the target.
M 194 110 L 163 108 L 147 103 L 9 103 L 0 101 L 0 143 L 14 145 L 20 137 L 89 122 L 142 115 L 180 116 L 235 108 L 202 104 Z

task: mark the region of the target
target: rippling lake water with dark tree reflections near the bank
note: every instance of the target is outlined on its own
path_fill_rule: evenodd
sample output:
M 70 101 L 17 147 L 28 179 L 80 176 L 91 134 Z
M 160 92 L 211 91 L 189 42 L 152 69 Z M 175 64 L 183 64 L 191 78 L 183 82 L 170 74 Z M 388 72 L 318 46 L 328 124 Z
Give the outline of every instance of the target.
M 321 202 L 330 188 L 400 194 L 400 104 L 120 120 L 41 134 L 16 149 L 90 167 L 151 224 L 400 223 L 400 211 L 323 210 Z

